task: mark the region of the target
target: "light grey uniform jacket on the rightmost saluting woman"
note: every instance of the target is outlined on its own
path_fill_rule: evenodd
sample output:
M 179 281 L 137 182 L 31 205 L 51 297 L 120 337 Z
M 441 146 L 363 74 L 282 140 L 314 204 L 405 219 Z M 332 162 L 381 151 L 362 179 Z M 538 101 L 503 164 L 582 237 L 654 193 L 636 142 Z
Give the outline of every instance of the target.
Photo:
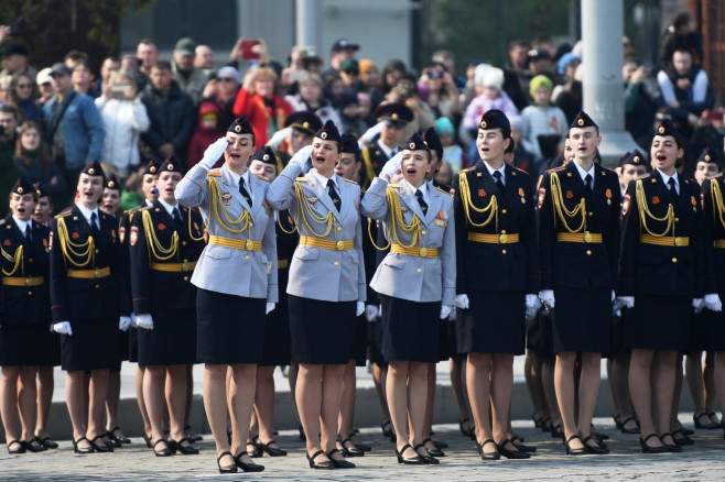
M 453 218 L 453 198 L 428 183 L 430 202 L 428 212 L 418 202 L 415 193 L 407 183 L 388 184 L 376 177 L 362 198 L 360 211 L 364 216 L 383 221 L 386 237 L 391 243 L 391 209 L 387 189 L 393 189 L 400 199 L 403 222 L 410 224 L 413 215 L 421 220 L 420 244 L 415 248 L 436 248 L 437 258 L 421 258 L 390 252 L 378 265 L 370 286 L 376 292 L 411 302 L 442 302 L 455 305 L 456 300 L 456 243 Z M 398 240 L 410 245 L 413 232 L 397 229 Z

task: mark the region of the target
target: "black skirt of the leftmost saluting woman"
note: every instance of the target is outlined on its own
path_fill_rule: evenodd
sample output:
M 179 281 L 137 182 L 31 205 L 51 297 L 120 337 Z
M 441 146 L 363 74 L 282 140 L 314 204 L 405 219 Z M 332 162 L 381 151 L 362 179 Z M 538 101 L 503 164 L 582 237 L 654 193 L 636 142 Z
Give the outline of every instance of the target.
M 196 292 L 196 360 L 234 364 L 262 361 L 263 298 L 246 298 L 198 288 Z

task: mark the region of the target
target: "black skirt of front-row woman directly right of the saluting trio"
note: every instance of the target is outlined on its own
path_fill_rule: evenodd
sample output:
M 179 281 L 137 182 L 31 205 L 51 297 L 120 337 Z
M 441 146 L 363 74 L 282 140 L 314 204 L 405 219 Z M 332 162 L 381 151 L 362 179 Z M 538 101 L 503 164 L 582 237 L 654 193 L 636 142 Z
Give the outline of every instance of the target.
M 458 325 L 462 353 L 522 354 L 526 346 L 524 294 L 473 292 Z

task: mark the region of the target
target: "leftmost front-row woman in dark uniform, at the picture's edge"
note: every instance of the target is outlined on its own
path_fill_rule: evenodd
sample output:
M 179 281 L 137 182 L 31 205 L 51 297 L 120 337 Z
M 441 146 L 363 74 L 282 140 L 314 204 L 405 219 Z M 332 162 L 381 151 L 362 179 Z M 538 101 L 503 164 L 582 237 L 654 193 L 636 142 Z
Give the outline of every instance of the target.
M 51 300 L 47 291 L 50 230 L 31 219 L 37 193 L 26 177 L 10 190 L 10 216 L 0 221 L 2 299 L 0 318 L 0 413 L 8 452 L 45 450 L 35 437 L 37 366 L 53 364 L 55 333 L 47 330 Z M 18 432 L 20 415 L 22 432 Z

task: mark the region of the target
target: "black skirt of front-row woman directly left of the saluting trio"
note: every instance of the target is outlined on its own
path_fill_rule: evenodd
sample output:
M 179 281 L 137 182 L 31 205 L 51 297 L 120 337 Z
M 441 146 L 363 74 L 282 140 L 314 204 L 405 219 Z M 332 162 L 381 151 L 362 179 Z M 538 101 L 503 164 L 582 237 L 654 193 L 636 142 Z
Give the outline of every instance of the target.
M 153 329 L 139 328 L 141 366 L 196 362 L 196 310 L 152 310 Z

